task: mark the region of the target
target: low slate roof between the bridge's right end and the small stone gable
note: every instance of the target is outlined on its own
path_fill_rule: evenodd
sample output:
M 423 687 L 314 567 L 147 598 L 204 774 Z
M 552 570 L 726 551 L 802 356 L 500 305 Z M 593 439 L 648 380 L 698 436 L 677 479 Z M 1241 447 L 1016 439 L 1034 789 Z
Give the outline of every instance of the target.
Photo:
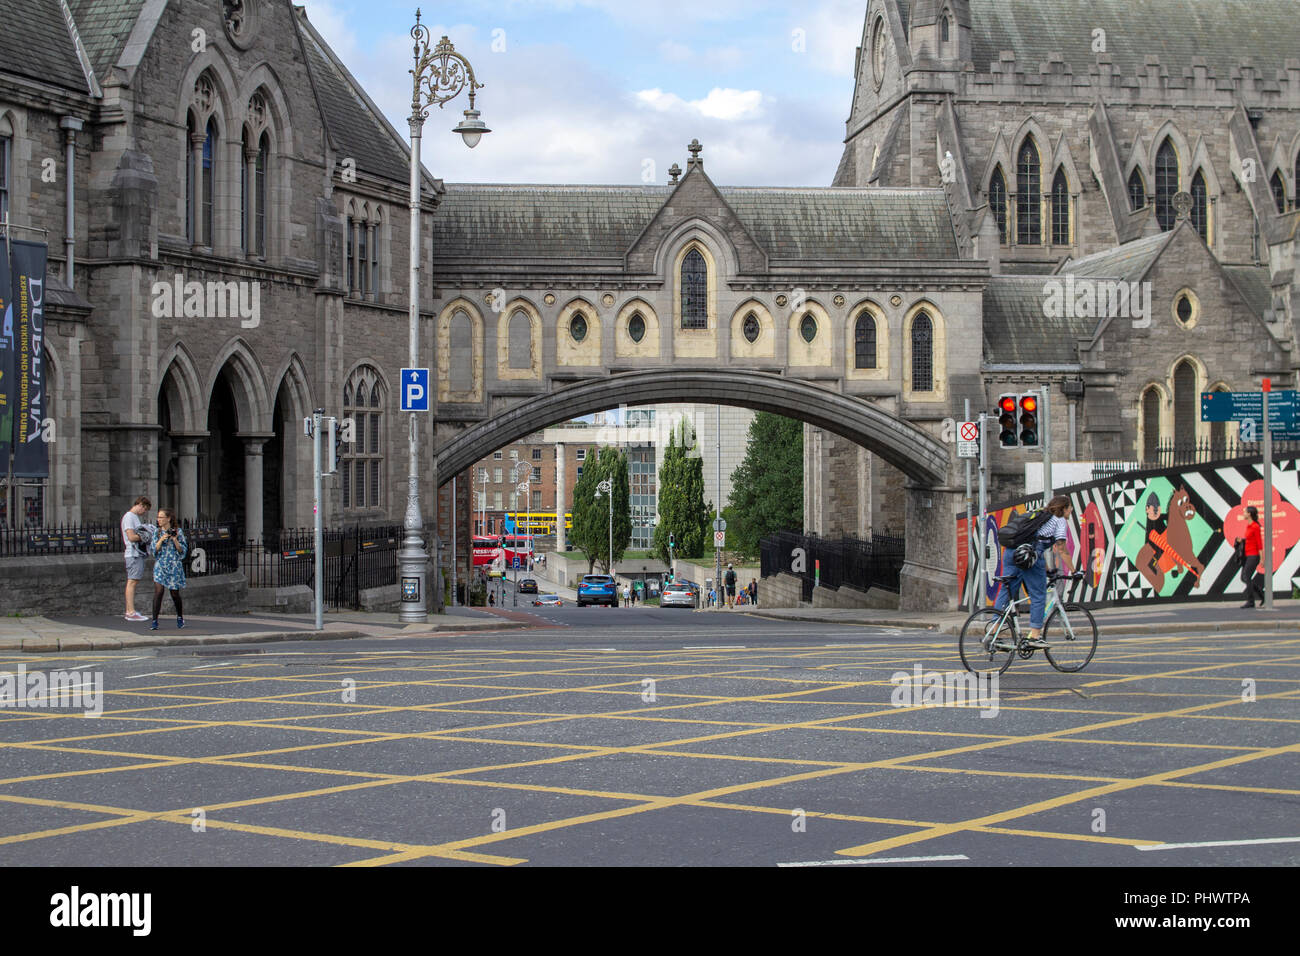
M 1075 339 L 1097 319 L 1044 315 L 1046 276 L 992 276 L 984 289 L 984 363 L 1062 365 L 1079 360 Z

